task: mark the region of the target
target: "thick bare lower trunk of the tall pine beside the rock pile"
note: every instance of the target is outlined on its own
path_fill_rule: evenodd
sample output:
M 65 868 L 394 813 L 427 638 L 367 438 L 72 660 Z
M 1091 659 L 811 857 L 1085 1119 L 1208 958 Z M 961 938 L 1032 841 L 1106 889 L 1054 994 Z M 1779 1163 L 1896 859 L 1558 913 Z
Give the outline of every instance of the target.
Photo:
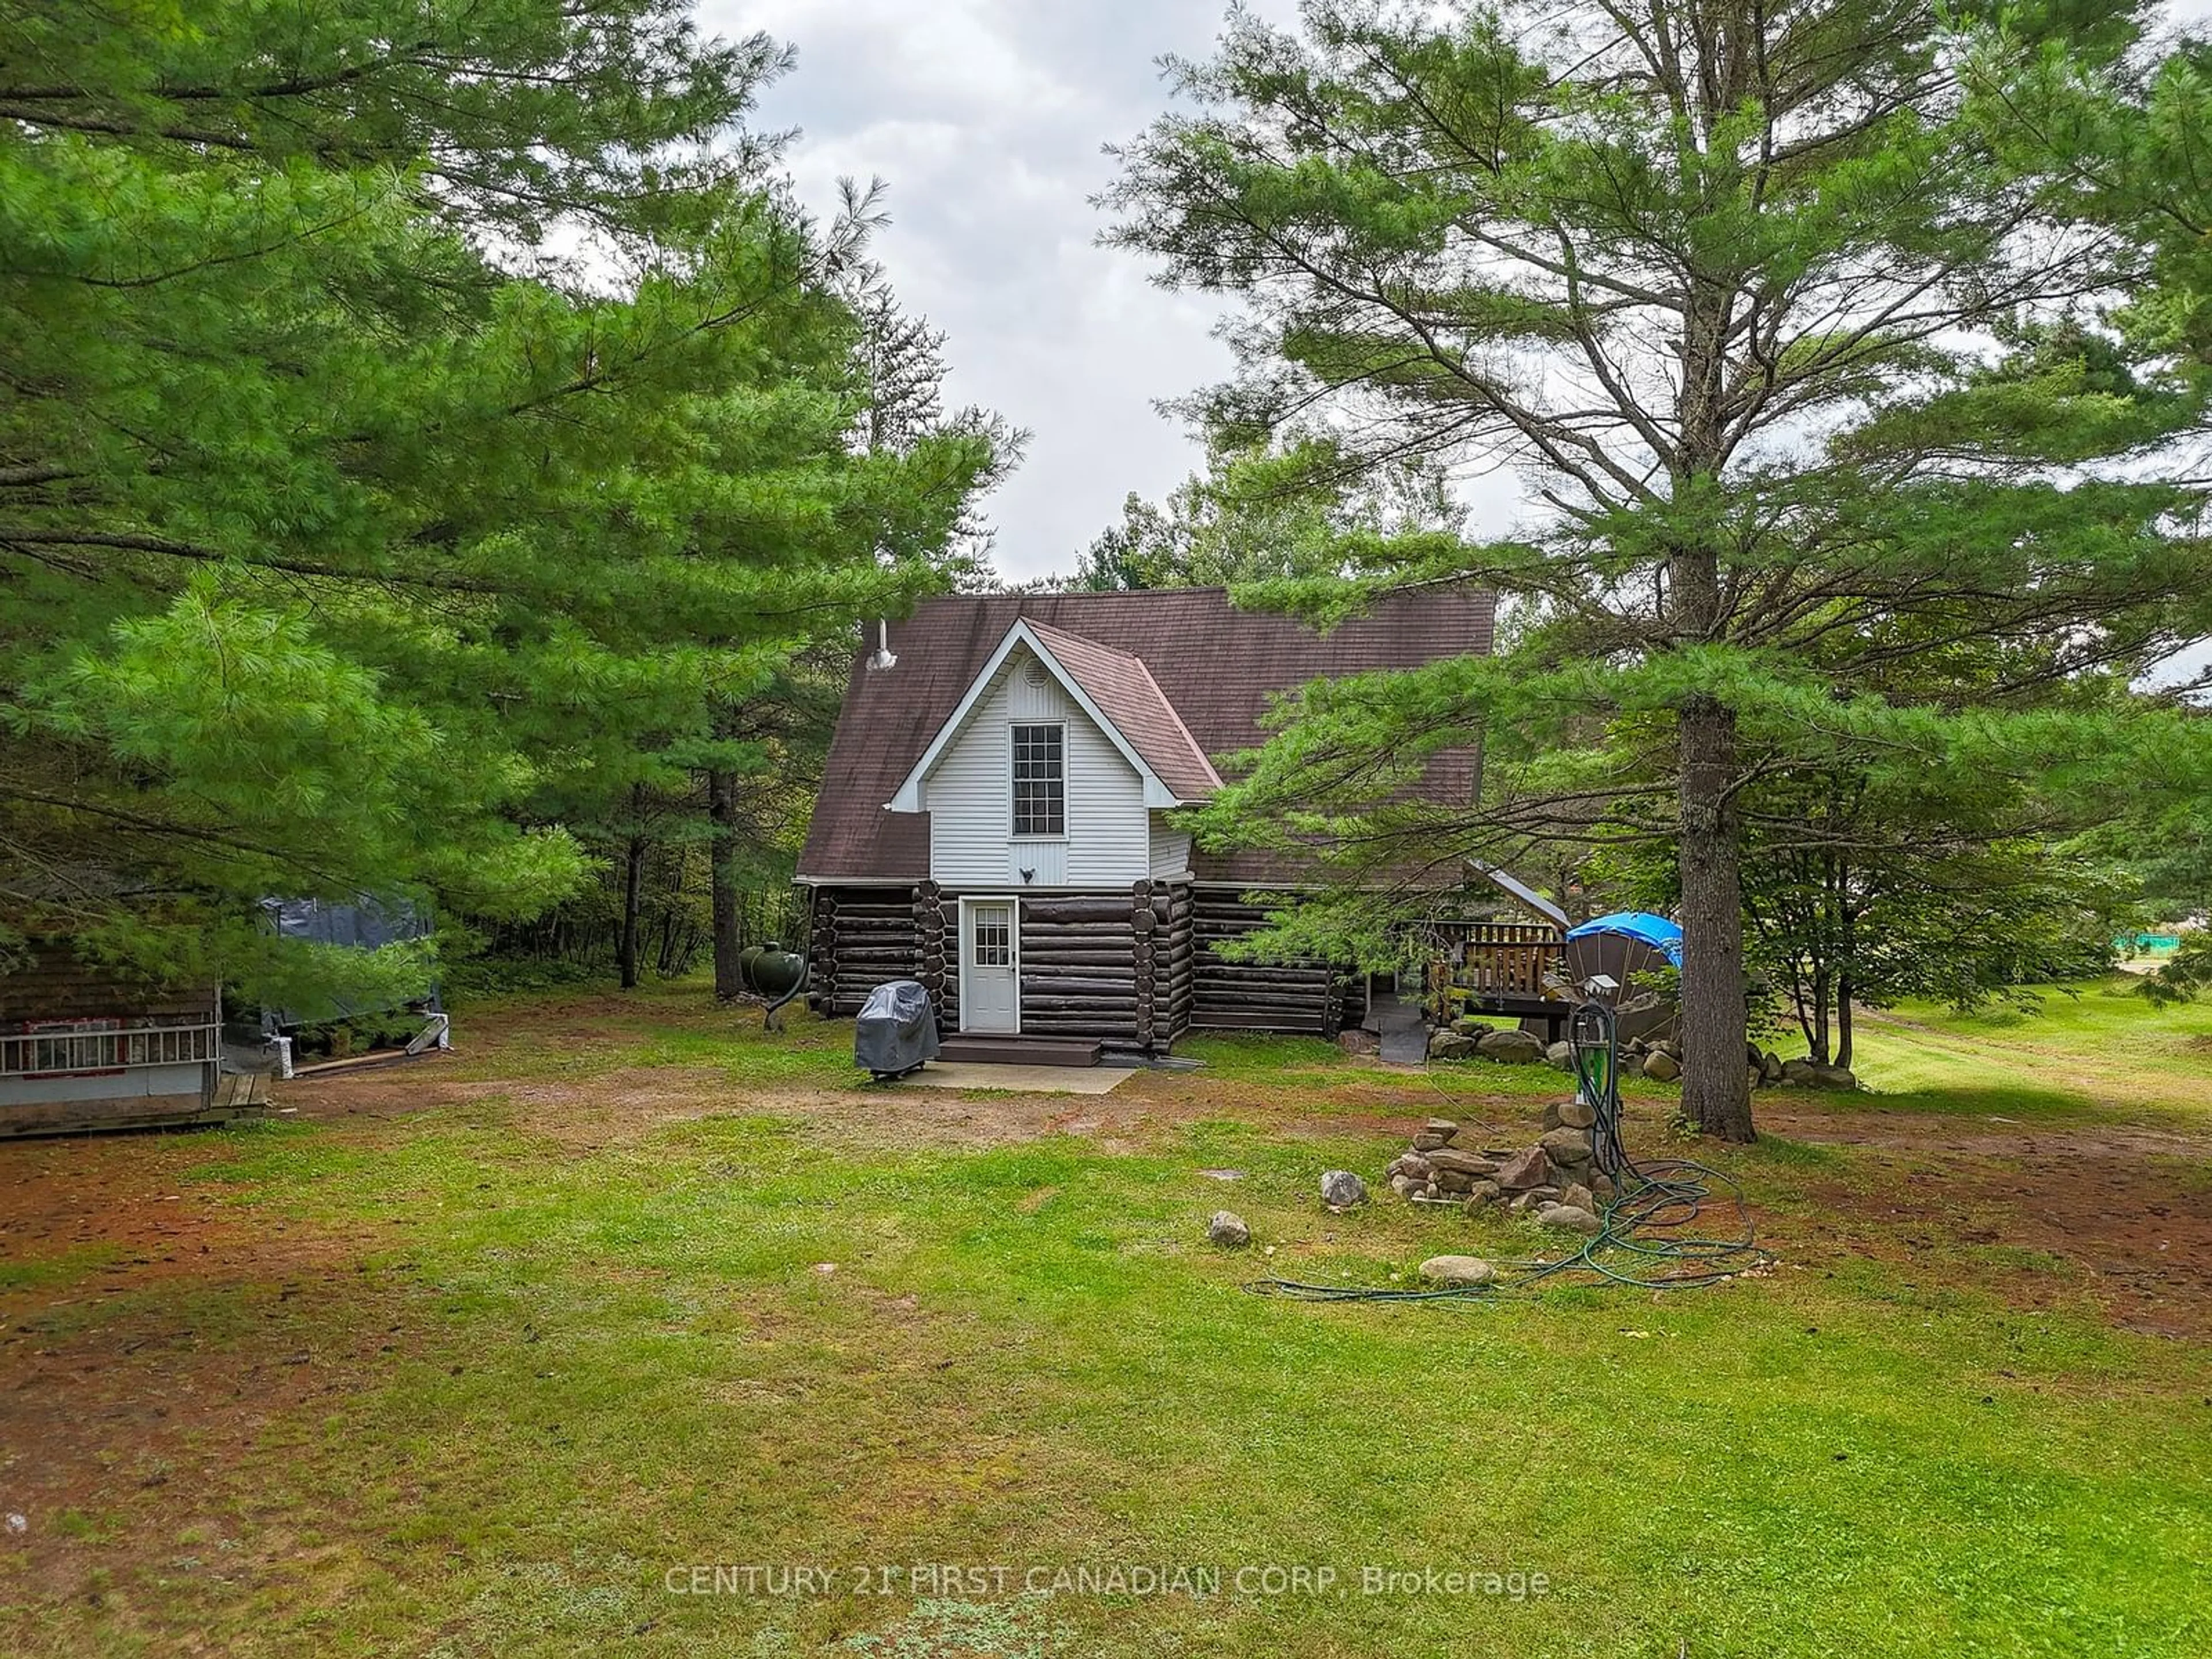
M 1701 1135 L 1750 1141 L 1743 1066 L 1743 876 L 1736 849 L 1736 717 L 1697 697 L 1681 710 L 1681 1106 Z

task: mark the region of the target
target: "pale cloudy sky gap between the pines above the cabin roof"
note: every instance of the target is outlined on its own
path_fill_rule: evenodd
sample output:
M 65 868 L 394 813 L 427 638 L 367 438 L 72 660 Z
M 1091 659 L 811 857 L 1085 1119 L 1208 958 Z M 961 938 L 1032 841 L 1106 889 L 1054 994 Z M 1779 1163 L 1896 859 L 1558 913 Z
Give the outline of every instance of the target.
M 1263 0 L 1290 18 L 1292 0 Z M 1168 294 L 1097 246 L 1088 204 L 1104 144 L 1161 108 L 1161 53 L 1203 55 L 1225 0 L 701 0 L 710 33 L 765 29 L 799 49 L 761 126 L 792 150 L 818 210 L 836 179 L 880 175 L 878 257 L 900 301 L 951 338 L 953 403 L 1031 434 L 991 504 L 1011 577 L 1068 571 L 1128 491 L 1159 495 L 1197 467 L 1157 398 L 1228 372 L 1217 307 Z

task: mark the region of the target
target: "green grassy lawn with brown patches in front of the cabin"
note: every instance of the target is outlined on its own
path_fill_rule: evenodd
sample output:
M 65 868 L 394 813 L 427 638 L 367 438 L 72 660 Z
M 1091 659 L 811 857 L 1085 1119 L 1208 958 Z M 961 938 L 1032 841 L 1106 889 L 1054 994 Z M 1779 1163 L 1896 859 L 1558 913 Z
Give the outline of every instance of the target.
M 1938 1135 L 1980 1110 L 1940 1066 L 2000 1037 L 2070 1079 L 2203 1031 L 2097 998 L 2059 1015 L 1869 1031 L 1869 1077 L 1911 1091 L 1882 1110 Z M 2212 1650 L 2201 1336 L 2124 1329 L 2088 1296 L 2022 1305 L 1975 1265 L 1989 1245 L 1827 1241 L 1812 1194 L 1882 1177 L 1818 1137 L 1818 1097 L 1712 1155 L 1765 1208 L 1770 1276 L 1312 1307 L 1241 1285 L 1544 1248 L 1391 1201 L 1332 1217 L 1314 1183 L 1374 1177 L 1438 1091 L 1533 1130 L 1557 1075 L 1199 1042 L 1206 1073 L 1062 1097 L 1055 1126 L 860 1091 L 849 1029 L 763 1037 L 697 987 L 471 1018 L 460 1060 L 336 1104 L 294 1091 L 296 1119 L 0 1146 L 0 1170 L 97 1177 L 117 1206 L 142 1188 L 186 1230 L 184 1267 L 144 1281 L 75 1223 L 0 1272 L 0 1509 L 42 1458 L 75 1471 L 66 1509 L 0 1535 L 0 1648 Z M 628 1117 L 655 1073 L 695 1108 Z M 2081 1121 L 2201 1133 L 2185 1068 L 2170 1084 L 2141 1113 L 2051 1088 Z M 1679 1150 L 1668 1104 L 1632 1102 L 1639 1150 Z M 925 1106 L 978 1121 L 947 1144 Z M 1223 1203 L 1272 1256 L 1203 1243 Z M 195 1234 L 217 1241 L 199 1267 Z M 681 1593 L 717 1564 L 832 1577 Z M 1473 1588 L 1420 1586 L 1429 1568 Z

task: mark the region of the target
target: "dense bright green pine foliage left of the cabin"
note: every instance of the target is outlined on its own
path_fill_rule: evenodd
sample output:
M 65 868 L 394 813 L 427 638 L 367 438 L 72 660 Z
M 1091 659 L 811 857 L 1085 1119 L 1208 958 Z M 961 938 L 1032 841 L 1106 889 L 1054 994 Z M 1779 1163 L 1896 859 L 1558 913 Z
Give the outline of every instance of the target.
M 573 891 L 712 710 L 953 580 L 865 453 L 869 204 L 675 0 L 0 11 L 0 929 L 254 971 L 268 894 Z

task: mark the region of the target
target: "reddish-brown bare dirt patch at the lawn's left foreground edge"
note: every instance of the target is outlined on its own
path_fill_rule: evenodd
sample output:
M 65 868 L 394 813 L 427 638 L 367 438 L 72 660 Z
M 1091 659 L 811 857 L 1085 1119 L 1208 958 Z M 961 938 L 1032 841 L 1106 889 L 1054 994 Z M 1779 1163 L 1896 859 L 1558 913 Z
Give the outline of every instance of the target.
M 221 1201 L 204 1133 L 0 1146 L 0 1537 L 11 1599 L 131 1628 L 104 1588 L 276 1571 L 230 1504 L 272 1425 L 378 1387 L 409 1340 L 363 1243 Z M 148 1294 L 150 1292 L 150 1294 Z

